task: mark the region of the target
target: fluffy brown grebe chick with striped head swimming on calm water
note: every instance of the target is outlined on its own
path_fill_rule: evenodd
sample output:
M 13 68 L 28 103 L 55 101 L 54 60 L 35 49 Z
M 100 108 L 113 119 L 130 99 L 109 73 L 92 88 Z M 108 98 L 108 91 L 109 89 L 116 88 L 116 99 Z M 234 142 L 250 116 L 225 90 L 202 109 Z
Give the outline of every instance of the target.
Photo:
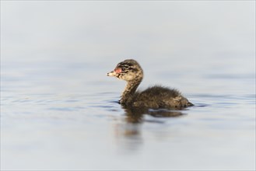
M 143 108 L 171 108 L 182 109 L 193 106 L 181 92 L 163 86 L 153 86 L 142 92 L 136 92 L 143 79 L 143 71 L 139 63 L 133 59 L 121 61 L 114 71 L 108 72 L 107 76 L 114 76 L 127 82 L 121 95 L 120 103 L 124 106 Z

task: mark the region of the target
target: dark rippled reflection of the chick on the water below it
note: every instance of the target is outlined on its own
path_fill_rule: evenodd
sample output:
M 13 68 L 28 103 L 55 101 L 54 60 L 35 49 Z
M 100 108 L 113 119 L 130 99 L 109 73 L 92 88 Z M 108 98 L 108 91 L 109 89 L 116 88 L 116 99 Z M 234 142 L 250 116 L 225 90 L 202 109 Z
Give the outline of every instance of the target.
M 166 110 L 166 109 L 144 109 L 139 107 L 123 106 L 124 122 L 115 124 L 115 138 L 121 149 L 134 152 L 143 145 L 143 123 L 163 124 L 165 121 L 160 117 L 181 117 L 184 116 L 183 110 Z M 146 117 L 147 115 L 151 116 Z M 150 118 L 150 119 L 149 119 Z

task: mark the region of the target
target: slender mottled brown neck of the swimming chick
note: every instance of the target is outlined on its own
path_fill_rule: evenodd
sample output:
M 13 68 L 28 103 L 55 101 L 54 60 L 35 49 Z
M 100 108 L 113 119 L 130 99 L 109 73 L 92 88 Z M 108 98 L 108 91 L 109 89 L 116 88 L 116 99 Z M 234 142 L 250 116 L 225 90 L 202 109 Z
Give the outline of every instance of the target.
M 136 89 L 141 82 L 142 78 L 128 81 L 127 85 L 125 86 L 124 92 L 122 93 L 120 103 L 128 104 L 129 101 L 132 100 L 132 96 L 135 94 Z

